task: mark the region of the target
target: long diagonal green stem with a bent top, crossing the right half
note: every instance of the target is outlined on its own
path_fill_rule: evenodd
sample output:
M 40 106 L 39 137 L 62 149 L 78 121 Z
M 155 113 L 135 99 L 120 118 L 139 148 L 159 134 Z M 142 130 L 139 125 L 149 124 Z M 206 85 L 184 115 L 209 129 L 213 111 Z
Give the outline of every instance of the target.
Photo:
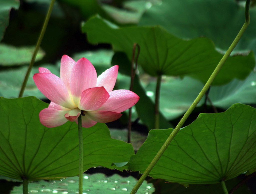
M 240 40 L 242 34 L 244 33 L 244 31 L 246 30 L 246 28 L 248 27 L 249 23 L 250 23 L 250 16 L 249 16 L 249 8 L 250 8 L 250 0 L 246 1 L 246 8 L 245 8 L 245 22 L 244 25 L 242 26 L 241 30 L 239 31 L 239 33 L 237 34 L 237 37 L 235 38 L 235 40 L 232 42 L 232 44 L 230 45 L 230 47 L 228 48 L 227 52 L 225 53 L 225 55 L 222 57 L 222 59 L 220 60 L 219 64 L 217 65 L 217 67 L 215 68 L 215 70 L 213 71 L 213 73 L 211 74 L 210 78 L 208 79 L 208 81 L 206 82 L 205 86 L 203 87 L 203 89 L 201 90 L 201 92 L 199 93 L 199 95 L 197 96 L 197 98 L 195 99 L 195 101 L 191 104 L 191 106 L 188 108 L 187 112 L 184 114 L 184 116 L 182 117 L 182 119 L 180 120 L 180 122 L 178 123 L 178 125 L 175 127 L 175 129 L 173 130 L 173 132 L 170 134 L 170 136 L 167 138 L 167 140 L 164 142 L 163 146 L 161 147 L 161 149 L 158 151 L 158 153 L 156 154 L 156 156 L 154 157 L 154 159 L 151 161 L 151 163 L 149 164 L 149 166 L 146 168 L 145 172 L 143 173 L 143 175 L 141 176 L 141 178 L 138 180 L 138 182 L 136 183 L 136 185 L 134 186 L 134 188 L 132 189 L 130 194 L 134 194 L 137 192 L 137 190 L 140 188 L 141 184 L 143 183 L 143 181 L 145 180 L 145 178 L 148 176 L 148 174 L 150 173 L 150 171 L 153 169 L 153 167 L 155 166 L 155 164 L 157 163 L 157 161 L 159 160 L 159 158 L 162 156 L 162 154 L 164 153 L 164 151 L 166 150 L 166 148 L 168 147 L 168 145 L 170 144 L 170 142 L 173 140 L 173 138 L 175 137 L 175 135 L 177 134 L 177 132 L 180 130 L 180 128 L 182 127 L 182 125 L 185 123 L 185 121 L 187 120 L 188 116 L 191 114 L 191 112 L 195 109 L 196 105 L 199 103 L 199 101 L 202 99 L 202 97 L 205 95 L 205 92 L 208 90 L 208 88 L 210 87 L 212 81 L 214 80 L 214 78 L 217 76 L 218 72 L 220 71 L 222 65 L 225 63 L 225 61 L 227 60 L 227 58 L 229 57 L 230 53 L 233 51 L 234 47 L 237 45 L 238 41 Z

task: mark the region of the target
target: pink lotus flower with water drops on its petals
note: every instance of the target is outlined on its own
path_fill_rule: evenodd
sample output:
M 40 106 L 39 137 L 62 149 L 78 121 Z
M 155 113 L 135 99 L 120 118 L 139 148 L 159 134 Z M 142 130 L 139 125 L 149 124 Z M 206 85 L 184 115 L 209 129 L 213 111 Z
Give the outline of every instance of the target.
M 118 65 L 97 78 L 88 59 L 75 62 L 67 55 L 61 58 L 60 78 L 40 67 L 33 79 L 38 89 L 51 100 L 48 108 L 39 113 L 40 122 L 46 127 L 57 127 L 68 120 L 77 123 L 81 110 L 83 127 L 120 118 L 120 113 L 136 104 L 140 97 L 130 90 L 112 91 L 117 74 Z

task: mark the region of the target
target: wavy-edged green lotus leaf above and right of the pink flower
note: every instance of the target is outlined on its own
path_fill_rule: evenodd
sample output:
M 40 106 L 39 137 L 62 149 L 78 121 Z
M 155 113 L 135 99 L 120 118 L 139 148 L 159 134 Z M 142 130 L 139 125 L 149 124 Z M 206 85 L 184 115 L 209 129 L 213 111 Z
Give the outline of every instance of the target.
M 125 52 L 129 58 L 133 44 L 138 43 L 141 48 L 138 63 L 152 76 L 189 75 L 206 82 L 223 56 L 207 38 L 182 40 L 159 26 L 118 28 L 96 16 L 84 23 L 82 30 L 91 43 L 111 43 L 115 51 Z M 254 66 L 253 53 L 229 57 L 214 84 L 244 79 Z

